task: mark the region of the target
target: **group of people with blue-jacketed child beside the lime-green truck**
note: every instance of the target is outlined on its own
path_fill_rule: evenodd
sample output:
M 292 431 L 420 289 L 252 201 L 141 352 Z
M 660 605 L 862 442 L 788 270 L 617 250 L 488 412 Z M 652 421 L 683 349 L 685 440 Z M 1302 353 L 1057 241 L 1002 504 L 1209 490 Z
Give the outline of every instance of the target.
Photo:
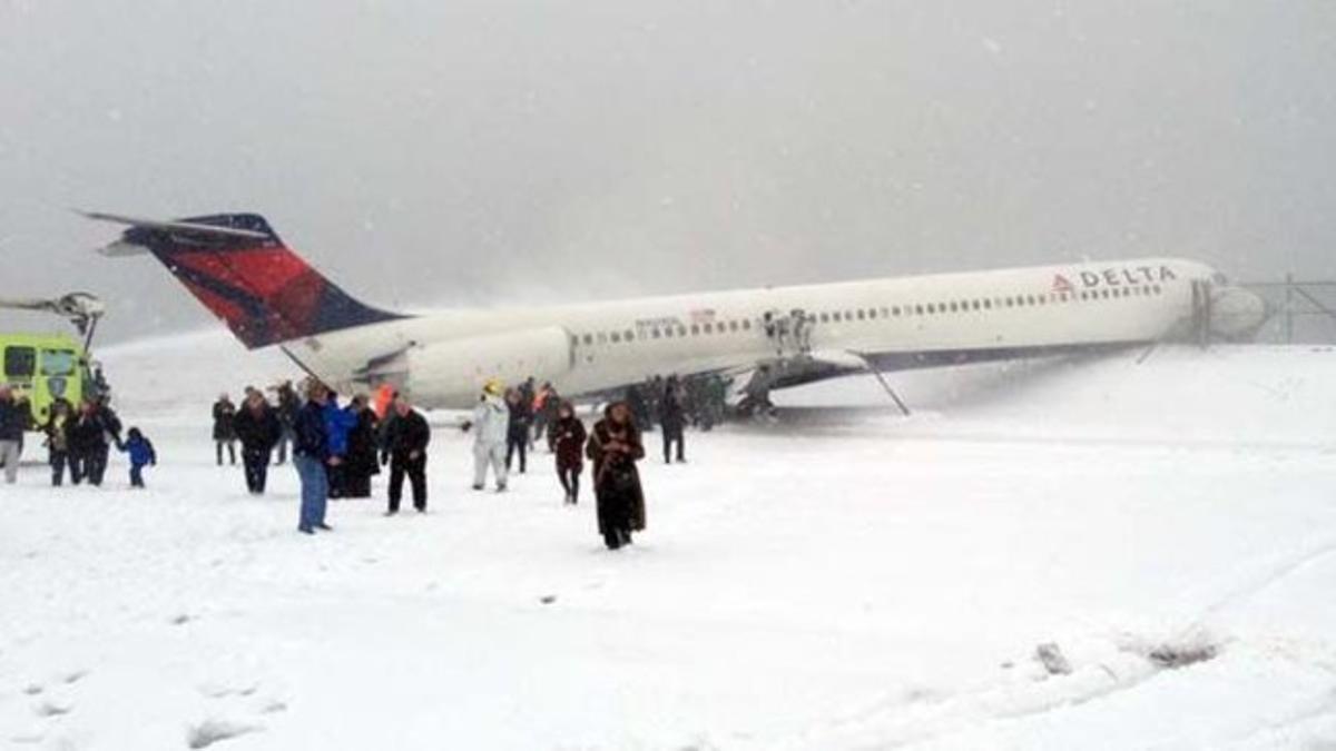
M 53 486 L 64 485 L 67 474 L 73 485 L 87 481 L 100 486 L 115 446 L 130 457 L 130 485 L 144 488 L 144 468 L 158 464 L 158 452 L 138 428 L 122 436 L 120 417 L 111 409 L 107 392 L 86 398 L 77 409 L 57 398 L 48 414 L 44 424 L 35 425 L 29 404 L 17 398 L 8 385 L 0 385 L 0 466 L 7 484 L 17 481 L 24 434 L 36 429 L 45 437 L 43 444 Z

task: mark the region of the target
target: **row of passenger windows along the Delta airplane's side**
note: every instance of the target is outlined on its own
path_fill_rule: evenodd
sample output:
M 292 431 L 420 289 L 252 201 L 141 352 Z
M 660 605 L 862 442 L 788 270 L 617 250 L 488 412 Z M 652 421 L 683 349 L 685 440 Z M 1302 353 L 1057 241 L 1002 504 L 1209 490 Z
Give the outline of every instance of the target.
M 818 314 L 807 314 L 806 323 L 840 323 L 846 321 L 875 321 L 878 318 L 899 318 L 912 315 L 941 315 L 946 313 L 969 313 L 983 310 L 1003 310 L 1007 307 L 1031 307 L 1041 305 L 1062 305 L 1079 301 L 1116 299 L 1125 297 L 1150 297 L 1164 294 L 1160 285 L 1144 285 L 1136 287 L 1104 287 L 1100 290 L 1082 290 L 1081 293 L 1049 293 L 1038 295 L 1013 295 L 997 298 L 959 299 L 947 302 L 926 302 L 914 305 L 892 305 L 887 307 L 860 307 L 855 310 L 823 310 Z M 762 325 L 756 325 L 762 329 Z M 672 339 L 675 337 L 697 337 L 700 334 L 728 334 L 737 331 L 751 331 L 752 322 L 719 321 L 716 323 L 692 323 L 687 326 L 663 326 L 649 329 L 647 335 L 640 338 Z M 582 334 L 572 337 L 572 343 L 592 346 L 595 343 L 621 343 L 636 341 L 636 333 L 631 329 L 625 331 L 600 331 L 597 334 Z

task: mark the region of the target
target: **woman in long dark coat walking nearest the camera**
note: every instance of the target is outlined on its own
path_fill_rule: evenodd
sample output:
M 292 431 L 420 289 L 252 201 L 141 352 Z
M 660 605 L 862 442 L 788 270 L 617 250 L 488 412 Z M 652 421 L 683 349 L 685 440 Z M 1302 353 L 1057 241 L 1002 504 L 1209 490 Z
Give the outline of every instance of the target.
M 587 456 L 593 460 L 599 498 L 599 533 L 608 549 L 631 544 L 631 533 L 645 528 L 645 494 L 636 461 L 645 457 L 640 430 L 627 402 L 615 402 L 593 426 Z

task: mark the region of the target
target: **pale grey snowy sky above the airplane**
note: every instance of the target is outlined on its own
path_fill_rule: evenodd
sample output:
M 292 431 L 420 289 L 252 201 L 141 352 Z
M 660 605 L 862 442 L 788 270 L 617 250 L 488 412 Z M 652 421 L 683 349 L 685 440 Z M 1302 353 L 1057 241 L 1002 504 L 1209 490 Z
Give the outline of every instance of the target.
M 207 325 L 68 207 L 255 210 L 407 307 L 1142 254 L 1331 275 L 1333 82 L 1329 0 L 0 0 L 0 295 Z

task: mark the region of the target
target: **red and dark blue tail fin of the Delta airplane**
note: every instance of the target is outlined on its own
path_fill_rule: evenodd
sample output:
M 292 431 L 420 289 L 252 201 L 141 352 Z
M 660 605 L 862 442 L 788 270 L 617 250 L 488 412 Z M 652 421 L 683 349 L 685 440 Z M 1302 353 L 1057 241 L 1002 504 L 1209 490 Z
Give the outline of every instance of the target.
M 152 254 L 250 349 L 402 318 L 350 297 L 258 214 L 170 222 L 87 215 L 130 224 L 103 253 Z

